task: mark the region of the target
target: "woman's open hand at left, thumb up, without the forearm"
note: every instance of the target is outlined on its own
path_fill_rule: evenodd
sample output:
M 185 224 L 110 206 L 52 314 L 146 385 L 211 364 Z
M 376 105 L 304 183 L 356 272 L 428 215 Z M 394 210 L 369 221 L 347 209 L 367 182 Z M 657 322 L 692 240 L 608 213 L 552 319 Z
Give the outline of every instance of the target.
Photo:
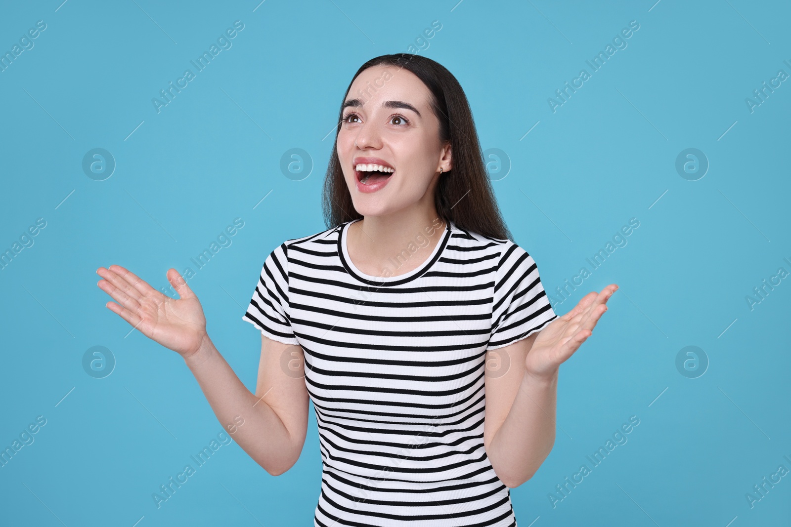
M 168 269 L 167 277 L 179 294 L 178 300 L 158 292 L 120 265 L 100 267 L 97 274 L 104 278 L 97 283 L 99 288 L 118 302 L 106 304 L 110 311 L 184 359 L 198 352 L 207 337 L 206 317 L 198 297 L 176 269 Z

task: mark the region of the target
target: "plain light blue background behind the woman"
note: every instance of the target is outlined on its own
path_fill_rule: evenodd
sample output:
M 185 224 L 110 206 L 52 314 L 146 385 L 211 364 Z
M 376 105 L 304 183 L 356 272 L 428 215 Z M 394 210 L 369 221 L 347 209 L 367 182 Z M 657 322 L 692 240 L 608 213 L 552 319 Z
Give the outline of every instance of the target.
M 184 361 L 104 307 L 95 271 L 118 263 L 159 288 L 242 218 L 189 283 L 255 390 L 260 337 L 241 316 L 265 256 L 327 228 L 320 193 L 343 92 L 363 62 L 410 51 L 438 20 L 419 53 L 459 79 L 483 149 L 506 152 L 494 188 L 548 291 L 640 221 L 556 308 L 621 286 L 561 367 L 554 449 L 512 491 L 519 525 L 789 525 L 791 477 L 753 508 L 745 499 L 791 469 L 791 280 L 753 310 L 745 300 L 791 271 L 791 81 L 754 112 L 745 104 L 791 73 L 787 2 L 60 2 L 0 15 L 2 52 L 47 24 L 0 73 L 0 248 L 47 221 L 0 271 L 0 446 L 47 419 L 0 469 L 0 524 L 312 525 L 312 408 L 289 472 L 222 446 L 157 509 L 152 493 L 221 426 Z M 237 20 L 233 47 L 157 114 L 151 99 Z M 628 47 L 553 113 L 547 98 L 633 20 Z M 81 168 L 94 148 L 115 158 L 104 181 Z M 300 181 L 280 169 L 292 148 L 312 159 Z M 697 181 L 675 168 L 687 148 L 710 163 Z M 82 368 L 94 345 L 117 361 L 106 378 Z M 676 369 L 687 345 L 709 358 L 699 378 Z M 630 416 L 641 422 L 628 442 L 553 508 L 548 493 Z

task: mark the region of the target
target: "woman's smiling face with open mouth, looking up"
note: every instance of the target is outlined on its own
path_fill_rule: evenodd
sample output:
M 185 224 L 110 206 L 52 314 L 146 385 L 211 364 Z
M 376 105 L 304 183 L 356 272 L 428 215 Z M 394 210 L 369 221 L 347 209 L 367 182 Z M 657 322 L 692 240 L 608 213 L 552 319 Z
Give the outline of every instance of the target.
M 414 73 L 395 66 L 373 66 L 354 79 L 344 101 L 338 157 L 354 209 L 361 215 L 384 216 L 414 206 L 435 212 L 439 169 L 447 172 L 452 166 L 450 145 L 439 139 L 430 96 Z M 358 171 L 358 164 L 394 171 Z M 361 182 L 366 174 L 368 184 Z

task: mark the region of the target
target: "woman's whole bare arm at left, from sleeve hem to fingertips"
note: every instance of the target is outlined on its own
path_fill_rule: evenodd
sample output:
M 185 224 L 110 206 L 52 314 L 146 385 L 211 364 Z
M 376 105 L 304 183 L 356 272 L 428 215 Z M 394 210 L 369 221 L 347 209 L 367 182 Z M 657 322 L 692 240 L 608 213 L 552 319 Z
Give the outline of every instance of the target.
M 214 347 L 198 297 L 176 269 L 169 269 L 167 277 L 179 299 L 163 295 L 120 265 L 100 267 L 97 273 L 104 279 L 97 285 L 118 302 L 108 302 L 108 309 L 184 358 L 214 415 L 256 463 L 277 476 L 297 462 L 308 428 L 308 391 L 299 346 L 262 335 L 253 394 Z M 281 367 L 284 354 L 296 368 Z

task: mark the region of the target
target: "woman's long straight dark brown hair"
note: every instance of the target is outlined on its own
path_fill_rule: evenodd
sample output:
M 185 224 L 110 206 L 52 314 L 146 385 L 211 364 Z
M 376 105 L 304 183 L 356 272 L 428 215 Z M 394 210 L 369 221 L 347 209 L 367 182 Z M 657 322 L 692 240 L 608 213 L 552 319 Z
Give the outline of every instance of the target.
M 430 105 L 440 122 L 440 140 L 450 142 L 453 167 L 440 175 L 434 193 L 434 205 L 439 216 L 446 222 L 452 221 L 457 228 L 464 231 L 513 241 L 494 198 L 470 104 L 459 81 L 440 63 L 421 55 L 407 53 L 381 55 L 365 62 L 354 73 L 346 93 L 343 94 L 335 142 L 324 179 L 323 207 L 327 228 L 362 217 L 354 209 L 349 188 L 343 179 L 343 169 L 338 159 L 338 132 L 343 124 L 343 102 L 354 79 L 363 70 L 381 64 L 411 71 L 432 94 Z

